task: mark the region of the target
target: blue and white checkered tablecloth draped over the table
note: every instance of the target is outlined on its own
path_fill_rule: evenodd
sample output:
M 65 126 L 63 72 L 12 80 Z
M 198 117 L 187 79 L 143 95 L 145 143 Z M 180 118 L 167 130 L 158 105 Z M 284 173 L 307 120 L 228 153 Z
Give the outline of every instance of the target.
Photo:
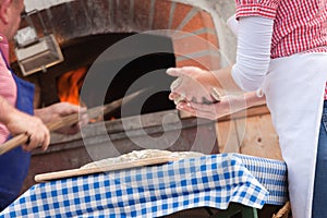
M 283 161 L 208 155 L 32 186 L 0 217 L 160 217 L 195 207 L 287 201 Z

